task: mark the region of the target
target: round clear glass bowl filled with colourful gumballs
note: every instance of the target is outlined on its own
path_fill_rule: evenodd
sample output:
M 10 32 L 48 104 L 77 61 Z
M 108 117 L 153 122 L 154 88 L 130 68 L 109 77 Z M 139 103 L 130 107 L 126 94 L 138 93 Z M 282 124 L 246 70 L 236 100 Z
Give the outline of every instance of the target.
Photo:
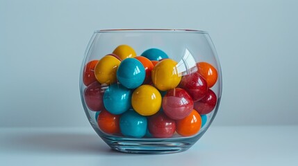
M 97 30 L 79 80 L 93 129 L 129 153 L 189 149 L 210 127 L 222 95 L 220 62 L 201 30 Z

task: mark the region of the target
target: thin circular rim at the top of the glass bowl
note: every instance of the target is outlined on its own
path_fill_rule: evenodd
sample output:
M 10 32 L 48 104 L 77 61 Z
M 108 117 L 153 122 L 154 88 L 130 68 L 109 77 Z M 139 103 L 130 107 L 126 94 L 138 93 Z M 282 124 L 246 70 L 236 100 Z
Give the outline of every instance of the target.
M 203 33 L 208 34 L 204 30 L 194 30 L 194 29 L 101 29 L 95 30 L 94 33 Z

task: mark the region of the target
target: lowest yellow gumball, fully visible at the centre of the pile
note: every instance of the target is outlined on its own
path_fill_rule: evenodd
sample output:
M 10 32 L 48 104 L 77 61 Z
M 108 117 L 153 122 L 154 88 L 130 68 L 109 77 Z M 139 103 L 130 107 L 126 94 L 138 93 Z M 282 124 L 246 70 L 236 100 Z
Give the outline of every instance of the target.
M 145 84 L 133 91 L 131 104 L 133 109 L 140 115 L 152 116 L 161 107 L 161 95 L 154 86 Z

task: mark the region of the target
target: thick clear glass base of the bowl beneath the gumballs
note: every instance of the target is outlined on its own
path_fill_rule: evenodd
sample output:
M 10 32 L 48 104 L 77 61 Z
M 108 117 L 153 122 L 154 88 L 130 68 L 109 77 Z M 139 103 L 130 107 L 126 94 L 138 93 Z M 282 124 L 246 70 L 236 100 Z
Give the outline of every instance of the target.
M 172 154 L 189 149 L 195 141 L 183 138 L 101 138 L 114 150 L 133 154 Z M 195 139 L 197 140 L 197 139 Z

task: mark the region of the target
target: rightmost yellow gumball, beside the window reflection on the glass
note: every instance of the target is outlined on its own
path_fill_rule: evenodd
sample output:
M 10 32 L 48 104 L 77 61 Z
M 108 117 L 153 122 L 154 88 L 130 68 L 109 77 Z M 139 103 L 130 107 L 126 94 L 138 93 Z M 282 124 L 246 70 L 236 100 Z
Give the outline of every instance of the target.
M 151 77 L 157 89 L 167 91 L 179 85 L 181 75 L 178 73 L 177 64 L 172 59 L 164 59 L 154 66 Z

